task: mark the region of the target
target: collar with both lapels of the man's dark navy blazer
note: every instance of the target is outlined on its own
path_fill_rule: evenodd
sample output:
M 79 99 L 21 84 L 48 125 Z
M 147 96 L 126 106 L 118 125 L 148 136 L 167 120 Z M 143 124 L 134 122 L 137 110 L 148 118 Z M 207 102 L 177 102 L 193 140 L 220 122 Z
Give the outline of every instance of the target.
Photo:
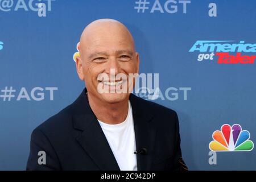
M 99 169 L 120 170 L 96 115 L 90 108 L 86 92 L 85 88 L 72 104 L 73 127 L 81 131 L 76 139 Z M 138 170 L 149 170 L 155 142 L 155 127 L 150 123 L 152 115 L 143 108 L 141 98 L 131 94 L 130 102 L 133 108 L 136 148 L 147 149 L 146 155 L 137 155 L 137 167 Z

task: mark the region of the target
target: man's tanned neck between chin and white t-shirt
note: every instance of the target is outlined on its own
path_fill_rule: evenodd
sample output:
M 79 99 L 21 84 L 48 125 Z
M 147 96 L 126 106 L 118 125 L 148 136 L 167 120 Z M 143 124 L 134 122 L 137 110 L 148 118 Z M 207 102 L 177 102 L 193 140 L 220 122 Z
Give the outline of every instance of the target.
M 88 93 L 88 101 L 93 113 L 101 122 L 109 125 L 116 125 L 125 121 L 127 117 L 129 100 L 113 104 L 109 104 L 107 102 L 102 104 L 102 101 Z

